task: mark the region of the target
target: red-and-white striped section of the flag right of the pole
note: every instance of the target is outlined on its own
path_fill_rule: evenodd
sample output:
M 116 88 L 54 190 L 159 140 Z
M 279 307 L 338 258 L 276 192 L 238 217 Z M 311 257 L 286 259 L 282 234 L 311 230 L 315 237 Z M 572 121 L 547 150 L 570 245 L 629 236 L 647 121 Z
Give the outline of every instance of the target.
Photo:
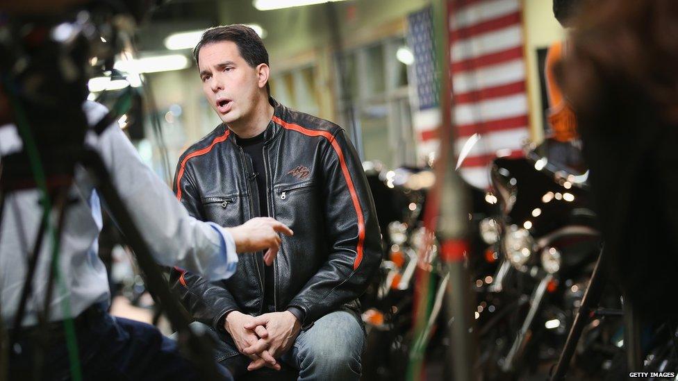
M 468 183 L 489 186 L 497 156 L 519 157 L 529 137 L 520 0 L 449 1 L 449 49 L 457 153 Z

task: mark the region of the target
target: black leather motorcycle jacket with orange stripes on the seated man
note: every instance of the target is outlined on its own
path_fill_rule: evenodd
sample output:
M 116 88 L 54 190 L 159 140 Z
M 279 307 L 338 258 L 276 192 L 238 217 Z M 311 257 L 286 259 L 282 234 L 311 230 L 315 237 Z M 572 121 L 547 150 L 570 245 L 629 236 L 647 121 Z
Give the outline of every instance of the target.
M 298 307 L 308 327 L 342 305 L 357 310 L 381 262 L 374 201 L 344 130 L 272 100 L 264 161 L 268 215 L 294 230 L 274 261 L 276 311 Z M 194 217 L 237 226 L 258 216 L 251 160 L 224 124 L 188 149 L 174 178 L 177 197 Z M 261 175 L 261 174 L 260 174 Z M 261 253 L 240 255 L 231 278 L 208 282 L 174 269 L 170 282 L 197 321 L 222 329 L 222 316 L 263 312 Z

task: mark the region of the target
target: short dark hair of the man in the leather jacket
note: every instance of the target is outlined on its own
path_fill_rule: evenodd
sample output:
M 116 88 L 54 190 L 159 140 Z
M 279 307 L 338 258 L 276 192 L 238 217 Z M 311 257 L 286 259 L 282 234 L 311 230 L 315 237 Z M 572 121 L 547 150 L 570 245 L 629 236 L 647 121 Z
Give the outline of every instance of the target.
M 270 66 L 268 63 L 268 51 L 266 50 L 261 37 L 256 34 L 254 29 L 242 24 L 215 26 L 204 31 L 200 37 L 200 41 L 195 48 L 193 48 L 195 63 L 199 63 L 198 54 L 203 46 L 222 41 L 231 41 L 235 46 L 238 46 L 240 56 L 245 59 L 245 62 L 247 62 L 250 67 L 257 67 L 263 63 Z M 271 88 L 268 82 L 266 82 L 266 91 L 268 94 L 271 94 Z

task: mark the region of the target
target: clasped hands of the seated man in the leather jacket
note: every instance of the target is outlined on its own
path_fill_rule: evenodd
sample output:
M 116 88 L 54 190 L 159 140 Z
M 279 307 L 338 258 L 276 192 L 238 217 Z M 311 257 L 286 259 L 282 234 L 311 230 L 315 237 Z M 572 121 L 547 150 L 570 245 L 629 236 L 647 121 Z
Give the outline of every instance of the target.
M 294 344 L 301 323 L 289 311 L 270 312 L 256 317 L 233 311 L 226 315 L 224 328 L 233 337 L 240 353 L 252 360 L 247 366 L 248 371 L 263 366 L 279 371 L 280 364 L 276 358 Z

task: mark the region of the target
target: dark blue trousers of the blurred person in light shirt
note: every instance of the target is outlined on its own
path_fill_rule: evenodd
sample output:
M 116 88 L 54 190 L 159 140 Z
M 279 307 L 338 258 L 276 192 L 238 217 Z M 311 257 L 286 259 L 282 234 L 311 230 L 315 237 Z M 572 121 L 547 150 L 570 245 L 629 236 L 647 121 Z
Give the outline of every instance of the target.
M 19 339 L 19 353 L 10 355 L 10 380 L 31 380 L 37 334 Z M 185 359 L 176 342 L 153 325 L 100 312 L 78 325 L 78 353 L 83 380 L 200 380 L 201 373 Z M 54 330 L 44 351 L 41 380 L 71 378 L 63 330 Z M 233 380 L 217 364 L 223 380 Z

